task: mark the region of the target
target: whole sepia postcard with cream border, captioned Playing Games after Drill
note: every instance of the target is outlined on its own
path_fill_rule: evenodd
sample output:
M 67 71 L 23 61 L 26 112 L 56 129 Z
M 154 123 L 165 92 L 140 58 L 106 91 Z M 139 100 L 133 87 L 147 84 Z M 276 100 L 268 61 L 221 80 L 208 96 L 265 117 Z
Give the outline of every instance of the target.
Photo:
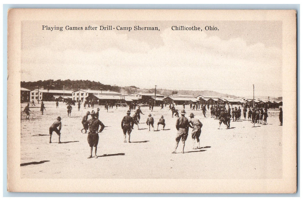
M 10 9 L 8 191 L 295 193 L 296 37 L 295 10 Z

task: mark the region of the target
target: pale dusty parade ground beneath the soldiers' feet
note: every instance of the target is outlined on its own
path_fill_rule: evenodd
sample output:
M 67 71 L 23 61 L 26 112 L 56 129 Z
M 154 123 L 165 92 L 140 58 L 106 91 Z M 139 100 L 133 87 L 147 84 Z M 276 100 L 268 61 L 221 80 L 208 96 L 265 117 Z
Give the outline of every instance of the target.
M 38 106 L 38 107 L 37 107 Z M 22 104 L 23 111 L 25 104 Z M 107 113 L 100 106 L 99 119 L 106 126 L 99 133 L 98 159 L 87 159 L 89 146 L 87 134 L 81 133 L 81 120 L 86 111 L 77 111 L 73 106 L 72 117 L 67 117 L 66 105 L 55 102 L 45 103 L 44 115 L 40 113 L 40 104 L 31 107 L 31 116 L 25 120 L 21 113 L 21 161 L 38 164 L 23 164 L 21 178 L 184 178 L 184 179 L 275 179 L 282 177 L 282 127 L 279 126 L 278 111 L 269 110 L 268 125 L 252 127 L 248 121 L 231 121 L 231 129 L 221 125 L 218 120 L 202 117 L 202 111 L 191 111 L 185 107 L 188 115 L 193 112 L 203 124 L 200 137 L 200 150 L 192 149 L 191 135 L 185 143 L 184 154 L 172 154 L 175 145 L 176 117 L 171 117 L 168 106 L 163 110 L 155 107 L 141 108 L 139 127 L 131 133 L 132 143 L 123 143 L 121 120 L 128 108 L 118 107 Z M 98 107 L 98 106 L 97 106 Z M 96 111 L 95 106 L 94 110 Z M 235 106 L 234 106 L 235 107 Z M 178 105 L 179 112 L 182 106 Z M 155 125 L 164 115 L 167 130 L 148 131 L 145 121 L 151 113 Z M 134 114 L 134 112 L 132 112 Z M 131 114 L 131 115 L 132 115 Z M 241 114 L 243 116 L 243 114 Z M 57 134 L 52 135 L 48 143 L 48 128 L 56 118 L 62 117 L 61 141 Z M 243 119 L 243 117 L 241 117 Z M 162 126 L 159 126 L 159 129 Z M 191 129 L 189 130 L 191 133 Z M 181 144 L 181 143 L 180 143 Z

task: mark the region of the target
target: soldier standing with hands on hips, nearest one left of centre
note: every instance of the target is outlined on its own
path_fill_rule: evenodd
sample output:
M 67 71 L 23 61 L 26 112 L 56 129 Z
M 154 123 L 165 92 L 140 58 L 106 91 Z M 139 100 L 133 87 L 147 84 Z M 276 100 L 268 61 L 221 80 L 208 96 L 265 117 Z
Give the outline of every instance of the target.
M 89 132 L 87 135 L 87 141 L 88 141 L 89 147 L 91 148 L 91 154 L 88 156 L 88 158 L 92 158 L 93 147 L 95 147 L 95 156 L 94 157 L 98 158 L 97 157 L 97 145 L 99 142 L 98 132 L 101 133 L 105 126 L 100 120 L 96 119 L 94 110 L 92 110 L 91 116 L 92 116 L 92 118 L 87 120 L 85 123 L 85 125 L 88 126 L 88 129 L 89 129 Z M 101 126 L 101 128 L 98 131 L 99 125 Z

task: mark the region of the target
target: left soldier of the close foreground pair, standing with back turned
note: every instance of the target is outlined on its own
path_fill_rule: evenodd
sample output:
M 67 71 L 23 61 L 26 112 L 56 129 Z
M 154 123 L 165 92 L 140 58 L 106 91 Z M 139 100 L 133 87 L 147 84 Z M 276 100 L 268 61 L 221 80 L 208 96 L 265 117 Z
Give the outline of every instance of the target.
M 189 127 L 188 119 L 185 117 L 185 114 L 186 114 L 185 110 L 182 110 L 181 117 L 178 117 L 176 121 L 176 129 L 178 130 L 178 132 L 176 135 L 175 151 L 173 151 L 172 153 L 177 153 L 176 151 L 180 140 L 182 141 L 182 145 L 183 145 L 181 153 L 184 153 L 184 146 L 188 136 L 188 127 Z

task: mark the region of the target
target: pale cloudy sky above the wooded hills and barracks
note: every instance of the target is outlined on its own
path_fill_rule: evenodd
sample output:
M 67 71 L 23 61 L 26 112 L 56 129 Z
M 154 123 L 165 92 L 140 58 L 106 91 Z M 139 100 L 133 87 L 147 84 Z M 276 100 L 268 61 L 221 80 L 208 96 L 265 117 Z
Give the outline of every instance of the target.
M 100 31 L 100 25 L 160 31 Z M 174 25 L 203 31 L 173 31 Z M 256 96 L 282 96 L 280 21 L 23 21 L 21 41 L 22 81 L 82 79 L 237 96 L 251 96 L 255 84 Z

